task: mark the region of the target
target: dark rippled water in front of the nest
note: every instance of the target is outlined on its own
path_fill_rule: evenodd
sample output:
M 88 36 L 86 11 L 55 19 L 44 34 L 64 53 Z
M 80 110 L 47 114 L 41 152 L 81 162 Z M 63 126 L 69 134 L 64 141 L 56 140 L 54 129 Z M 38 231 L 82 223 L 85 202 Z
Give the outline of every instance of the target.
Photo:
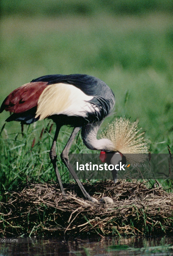
M 173 255 L 172 244 L 173 237 L 101 238 L 98 236 L 88 236 L 76 238 L 36 238 L 33 244 L 0 244 L 0 256 L 161 256 Z

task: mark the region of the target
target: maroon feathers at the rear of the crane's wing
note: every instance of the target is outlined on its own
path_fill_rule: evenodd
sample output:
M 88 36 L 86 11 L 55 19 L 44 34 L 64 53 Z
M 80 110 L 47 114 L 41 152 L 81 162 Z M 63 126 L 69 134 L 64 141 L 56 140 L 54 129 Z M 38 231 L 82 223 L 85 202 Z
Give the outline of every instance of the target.
M 15 89 L 3 101 L 0 113 L 4 109 L 13 113 L 22 113 L 37 106 L 38 99 L 47 84 L 48 82 L 33 82 Z

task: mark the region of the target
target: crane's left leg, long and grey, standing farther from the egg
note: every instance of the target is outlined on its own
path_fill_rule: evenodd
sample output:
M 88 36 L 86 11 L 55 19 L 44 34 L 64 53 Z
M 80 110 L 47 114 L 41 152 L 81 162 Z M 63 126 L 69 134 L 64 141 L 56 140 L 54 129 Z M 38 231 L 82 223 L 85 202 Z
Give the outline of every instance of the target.
M 49 156 L 50 156 L 50 160 L 52 162 L 53 168 L 55 170 L 59 186 L 61 188 L 61 193 L 62 193 L 63 196 L 66 196 L 66 194 L 64 192 L 63 184 L 61 182 L 61 177 L 59 175 L 58 167 L 57 167 L 57 154 L 56 154 L 56 151 L 55 151 L 56 142 L 57 142 L 57 138 L 58 138 L 60 128 L 61 128 L 61 126 L 57 125 L 55 135 L 54 135 L 54 139 L 53 139 L 53 143 L 52 143 L 52 147 L 51 147 L 50 152 L 49 152 Z

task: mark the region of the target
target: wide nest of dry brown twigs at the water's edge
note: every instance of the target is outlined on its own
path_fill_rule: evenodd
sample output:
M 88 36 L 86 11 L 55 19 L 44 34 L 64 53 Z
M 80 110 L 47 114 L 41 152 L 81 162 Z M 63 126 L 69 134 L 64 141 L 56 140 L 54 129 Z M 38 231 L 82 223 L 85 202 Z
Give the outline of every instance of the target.
M 0 206 L 2 236 L 64 235 L 159 235 L 173 230 L 173 194 L 157 182 L 102 181 L 83 184 L 98 200 L 111 197 L 113 204 L 92 203 L 82 198 L 74 183 L 64 184 L 62 197 L 54 183 L 27 184 L 7 192 Z M 77 196 L 76 195 L 79 196 Z

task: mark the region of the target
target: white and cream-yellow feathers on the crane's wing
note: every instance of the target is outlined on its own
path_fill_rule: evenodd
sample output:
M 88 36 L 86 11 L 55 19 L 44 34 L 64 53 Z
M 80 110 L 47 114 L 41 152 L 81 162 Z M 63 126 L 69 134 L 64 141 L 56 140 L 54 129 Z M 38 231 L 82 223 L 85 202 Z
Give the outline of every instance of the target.
M 93 96 L 86 95 L 74 85 L 57 83 L 48 85 L 38 100 L 35 118 L 42 120 L 50 115 L 87 117 L 87 113 L 98 111 L 98 107 L 88 102 Z

